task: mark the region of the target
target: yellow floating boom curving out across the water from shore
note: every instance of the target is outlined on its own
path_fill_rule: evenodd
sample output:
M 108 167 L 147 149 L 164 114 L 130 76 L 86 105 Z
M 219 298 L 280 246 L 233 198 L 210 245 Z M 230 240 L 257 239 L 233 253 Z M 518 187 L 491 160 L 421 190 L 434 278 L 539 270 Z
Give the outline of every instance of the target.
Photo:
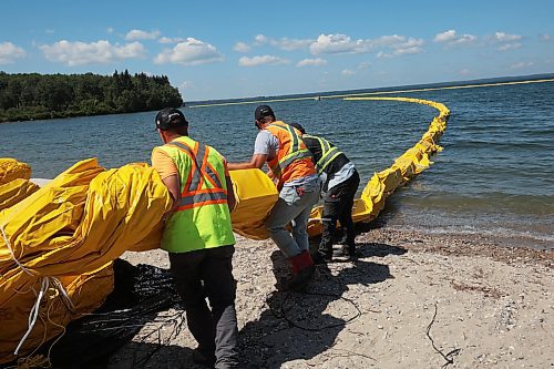
M 413 176 L 429 167 L 432 162 L 430 155 L 440 152 L 441 146 L 437 144 L 447 130 L 447 122 L 450 116 L 450 110 L 441 103 L 421 99 L 408 98 L 348 98 L 345 100 L 390 100 L 411 102 L 433 106 L 439 111 L 439 115 L 433 117 L 428 131 L 421 140 L 411 148 L 407 150 L 398 157 L 392 166 L 373 174 L 371 180 L 363 188 L 361 198 L 355 201 L 352 209 L 353 222 L 372 221 L 384 206 L 387 197 L 398 187 L 404 185 Z M 308 234 L 316 236 L 321 233 L 322 206 L 312 209 L 308 223 Z

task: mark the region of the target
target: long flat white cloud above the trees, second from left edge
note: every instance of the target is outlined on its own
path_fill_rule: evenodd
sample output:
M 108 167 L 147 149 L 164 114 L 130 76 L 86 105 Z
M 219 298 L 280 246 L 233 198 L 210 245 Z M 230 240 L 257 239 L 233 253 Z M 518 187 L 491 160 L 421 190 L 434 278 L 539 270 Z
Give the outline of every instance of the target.
M 140 42 L 112 45 L 105 40 L 91 43 L 62 40 L 51 45 L 41 45 L 39 49 L 42 50 L 48 60 L 61 62 L 69 66 L 112 63 L 124 59 L 142 58 L 146 53 L 146 50 Z

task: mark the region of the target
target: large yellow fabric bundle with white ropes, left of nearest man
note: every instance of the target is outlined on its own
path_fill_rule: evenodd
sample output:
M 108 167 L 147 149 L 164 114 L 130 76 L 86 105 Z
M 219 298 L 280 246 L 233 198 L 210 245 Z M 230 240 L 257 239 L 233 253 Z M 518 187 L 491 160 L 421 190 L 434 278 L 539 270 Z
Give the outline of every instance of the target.
M 106 171 L 85 160 L 1 211 L 0 363 L 99 307 L 113 288 L 112 262 L 158 245 L 171 205 L 153 168 Z

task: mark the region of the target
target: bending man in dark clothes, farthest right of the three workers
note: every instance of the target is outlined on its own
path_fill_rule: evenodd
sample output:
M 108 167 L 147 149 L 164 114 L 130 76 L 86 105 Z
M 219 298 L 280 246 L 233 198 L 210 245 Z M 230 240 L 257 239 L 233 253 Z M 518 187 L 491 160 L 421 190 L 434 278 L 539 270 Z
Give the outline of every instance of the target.
M 355 259 L 356 230 L 352 222 L 352 206 L 360 184 L 358 171 L 332 143 L 324 137 L 306 134 L 306 130 L 298 123 L 290 125 L 302 134 L 302 141 L 314 156 L 316 170 L 324 180 L 322 234 L 318 250 L 312 256 L 314 263 L 328 263 L 334 256 Z M 342 247 L 334 252 L 337 221 L 340 222 L 346 233 L 346 239 Z

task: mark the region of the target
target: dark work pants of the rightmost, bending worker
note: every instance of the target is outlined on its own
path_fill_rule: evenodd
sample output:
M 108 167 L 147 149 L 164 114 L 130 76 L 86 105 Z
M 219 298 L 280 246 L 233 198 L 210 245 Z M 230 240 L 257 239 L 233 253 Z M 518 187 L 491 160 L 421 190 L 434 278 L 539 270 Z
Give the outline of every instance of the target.
M 321 215 L 322 234 L 318 252 L 322 255 L 332 254 L 332 244 L 337 221 L 346 230 L 346 245 L 355 248 L 356 232 L 352 222 L 353 197 L 360 185 L 360 175 L 355 171 L 350 178 L 329 188 L 324 196 L 324 214 Z

